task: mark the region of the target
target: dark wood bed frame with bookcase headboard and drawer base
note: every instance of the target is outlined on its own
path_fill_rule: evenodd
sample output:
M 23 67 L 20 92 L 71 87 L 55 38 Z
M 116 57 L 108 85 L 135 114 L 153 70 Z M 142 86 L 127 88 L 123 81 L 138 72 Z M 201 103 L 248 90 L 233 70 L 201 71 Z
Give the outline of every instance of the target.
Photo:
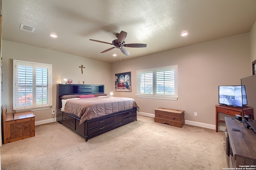
M 102 133 L 111 131 L 112 129 L 137 120 L 136 107 L 104 115 L 102 117 L 86 120 L 81 125 L 79 125 L 81 117 L 61 111 L 61 96 L 96 93 L 104 93 L 104 85 L 57 84 L 56 121 L 84 137 L 86 142 L 92 137 L 96 137 Z

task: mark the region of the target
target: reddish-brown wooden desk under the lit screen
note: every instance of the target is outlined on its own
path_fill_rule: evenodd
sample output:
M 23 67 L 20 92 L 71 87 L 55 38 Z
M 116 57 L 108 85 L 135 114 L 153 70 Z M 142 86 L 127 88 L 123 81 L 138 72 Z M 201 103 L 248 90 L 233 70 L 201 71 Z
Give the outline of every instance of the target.
M 224 113 L 227 115 L 249 115 L 249 119 L 254 119 L 254 115 L 253 115 L 253 107 L 246 107 L 246 109 L 244 109 L 244 113 L 242 110 L 242 107 L 232 107 L 232 106 L 225 106 L 225 105 L 215 105 L 215 116 L 216 116 L 216 132 L 218 132 L 218 122 L 223 122 L 225 123 L 224 120 L 219 120 L 218 118 L 218 113 Z

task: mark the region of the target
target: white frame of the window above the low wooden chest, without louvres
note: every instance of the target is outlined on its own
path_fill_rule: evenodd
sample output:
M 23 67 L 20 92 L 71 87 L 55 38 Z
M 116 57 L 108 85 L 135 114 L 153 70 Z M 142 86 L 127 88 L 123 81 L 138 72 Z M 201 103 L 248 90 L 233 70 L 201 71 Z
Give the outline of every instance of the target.
M 156 72 L 174 70 L 174 94 L 156 94 Z M 152 72 L 152 94 L 140 93 L 140 73 Z M 150 68 L 144 70 L 137 70 L 137 98 L 153 98 L 153 99 L 164 99 L 164 100 L 178 100 L 178 65 L 165 66 L 158 68 Z

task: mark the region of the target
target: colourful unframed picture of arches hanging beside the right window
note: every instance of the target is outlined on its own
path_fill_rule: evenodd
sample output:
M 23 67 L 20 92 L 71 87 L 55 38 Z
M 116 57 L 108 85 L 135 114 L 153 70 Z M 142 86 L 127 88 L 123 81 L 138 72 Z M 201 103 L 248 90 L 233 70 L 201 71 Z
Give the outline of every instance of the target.
M 132 91 L 131 72 L 115 74 L 115 91 Z

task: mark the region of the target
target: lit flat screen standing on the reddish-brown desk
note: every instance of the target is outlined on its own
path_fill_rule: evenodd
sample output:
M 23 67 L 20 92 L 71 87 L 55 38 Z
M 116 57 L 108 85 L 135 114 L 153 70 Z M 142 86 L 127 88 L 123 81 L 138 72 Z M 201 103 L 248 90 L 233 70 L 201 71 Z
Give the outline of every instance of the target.
M 247 105 L 245 86 L 219 86 L 219 104 L 234 107 Z

